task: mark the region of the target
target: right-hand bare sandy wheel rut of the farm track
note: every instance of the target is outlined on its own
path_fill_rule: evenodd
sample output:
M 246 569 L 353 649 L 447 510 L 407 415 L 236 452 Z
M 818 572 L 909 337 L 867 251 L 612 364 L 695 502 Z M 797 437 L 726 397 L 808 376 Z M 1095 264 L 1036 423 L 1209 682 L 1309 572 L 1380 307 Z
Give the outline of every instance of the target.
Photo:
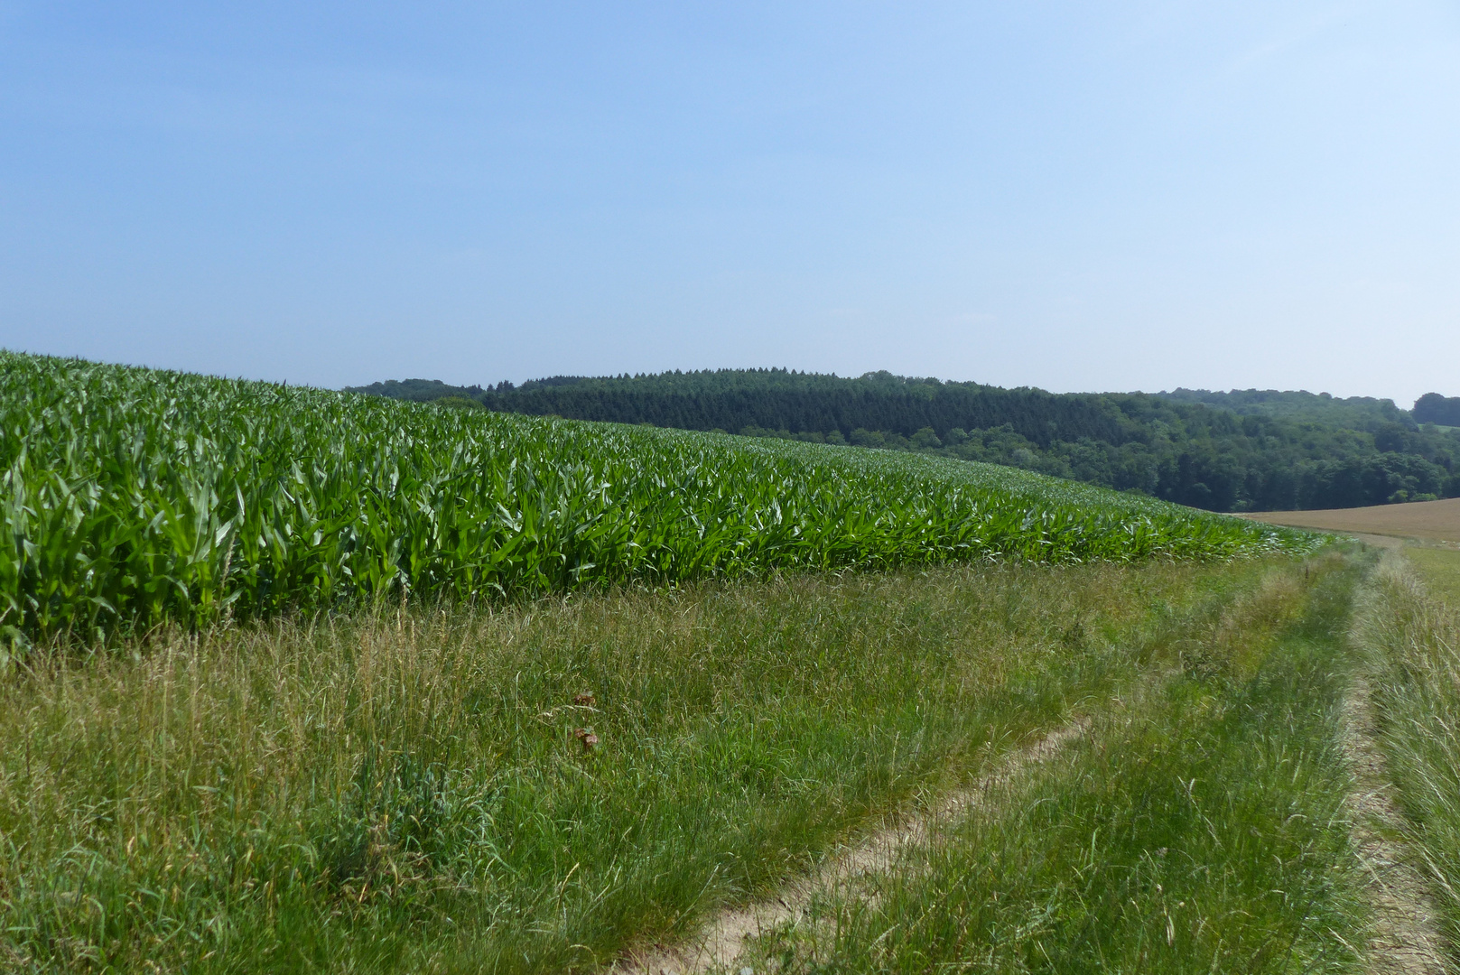
M 1343 701 L 1343 752 L 1355 779 L 1349 795 L 1353 845 L 1368 873 L 1365 893 L 1374 906 L 1374 931 L 1367 946 L 1374 975 L 1445 975 L 1444 940 L 1435 924 L 1435 903 L 1424 877 L 1407 861 L 1403 817 L 1391 797 L 1378 749 L 1368 683 L 1358 677 Z

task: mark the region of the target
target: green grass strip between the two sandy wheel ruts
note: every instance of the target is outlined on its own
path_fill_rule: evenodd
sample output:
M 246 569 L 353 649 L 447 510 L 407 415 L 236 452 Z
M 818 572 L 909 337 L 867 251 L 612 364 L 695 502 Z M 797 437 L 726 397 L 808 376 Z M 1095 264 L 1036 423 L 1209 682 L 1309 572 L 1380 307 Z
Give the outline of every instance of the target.
M 1337 746 L 1356 569 L 1270 575 L 1175 670 L 748 959 L 781 972 L 1356 971 Z

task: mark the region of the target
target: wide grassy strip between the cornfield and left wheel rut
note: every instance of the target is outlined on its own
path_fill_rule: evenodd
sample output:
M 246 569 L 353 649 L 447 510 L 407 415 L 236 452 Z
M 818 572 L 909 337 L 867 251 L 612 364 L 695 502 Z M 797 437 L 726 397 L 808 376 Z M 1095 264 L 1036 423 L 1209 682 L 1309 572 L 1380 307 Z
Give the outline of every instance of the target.
M 38 652 L 0 685 L 0 968 L 590 971 L 1099 706 L 1261 571 L 796 575 Z

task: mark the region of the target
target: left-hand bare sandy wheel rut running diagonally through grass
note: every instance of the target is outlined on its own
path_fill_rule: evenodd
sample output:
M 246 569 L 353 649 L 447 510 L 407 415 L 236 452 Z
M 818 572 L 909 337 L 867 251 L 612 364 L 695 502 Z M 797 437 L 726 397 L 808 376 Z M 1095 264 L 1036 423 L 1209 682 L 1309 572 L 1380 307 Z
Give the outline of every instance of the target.
M 958 822 L 978 809 L 991 790 L 1007 784 L 1022 769 L 1050 759 L 1085 734 L 1086 728 L 1089 721 L 1079 720 L 1050 731 L 1004 756 L 994 771 L 968 788 L 949 794 L 934 809 L 863 838 L 857 847 L 831 857 L 813 874 L 788 885 L 777 896 L 746 908 L 721 911 L 685 944 L 656 947 L 625 957 L 612 971 L 634 975 L 691 975 L 730 968 L 748 947 L 749 939 L 764 930 L 797 921 L 818 893 L 829 893 L 861 876 L 886 871 L 905 847 L 926 842 L 937 828 Z

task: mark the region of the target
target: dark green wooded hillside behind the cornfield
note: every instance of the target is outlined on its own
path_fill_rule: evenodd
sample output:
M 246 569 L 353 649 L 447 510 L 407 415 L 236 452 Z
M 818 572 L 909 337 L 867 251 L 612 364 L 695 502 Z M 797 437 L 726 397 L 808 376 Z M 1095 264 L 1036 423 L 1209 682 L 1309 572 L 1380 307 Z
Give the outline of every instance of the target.
M 553 377 L 520 387 L 406 379 L 349 391 L 419 401 L 458 397 L 508 413 L 914 450 L 1140 490 L 1213 511 L 1460 496 L 1460 435 L 1419 426 L 1393 401 L 1365 397 L 1259 390 L 1061 394 L 889 372 L 841 378 L 787 369 Z

